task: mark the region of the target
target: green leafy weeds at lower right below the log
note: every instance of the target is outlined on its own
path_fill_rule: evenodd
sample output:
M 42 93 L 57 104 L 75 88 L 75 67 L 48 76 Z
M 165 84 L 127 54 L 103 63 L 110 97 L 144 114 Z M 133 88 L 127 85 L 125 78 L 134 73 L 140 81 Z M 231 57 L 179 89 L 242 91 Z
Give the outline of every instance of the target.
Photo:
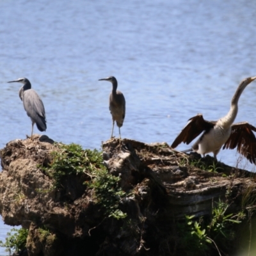
M 245 218 L 243 211 L 237 214 L 227 214 L 230 205 L 221 200 L 212 208 L 212 217 L 209 219 L 195 216 L 186 216 L 186 222 L 180 225 L 181 244 L 186 244 L 186 255 L 207 255 L 212 246 L 228 250 L 234 241 L 235 226 Z M 210 253 L 211 254 L 211 253 Z

